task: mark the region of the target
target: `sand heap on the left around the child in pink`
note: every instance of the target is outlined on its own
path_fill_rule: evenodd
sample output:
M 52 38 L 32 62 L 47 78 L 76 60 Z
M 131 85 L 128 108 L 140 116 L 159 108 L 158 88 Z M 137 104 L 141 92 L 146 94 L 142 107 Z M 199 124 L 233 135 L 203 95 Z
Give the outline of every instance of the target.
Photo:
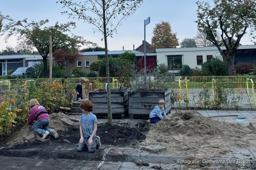
M 64 113 L 53 113 L 50 114 L 50 129 L 55 129 L 57 132 L 59 130 L 65 130 L 68 128 L 61 119 L 68 118 L 67 115 Z M 33 142 L 35 140 L 41 140 L 41 137 L 38 135 L 37 132 L 31 131 L 32 125 L 24 125 L 19 131 L 13 133 L 7 140 L 5 145 L 7 147 L 13 147 L 16 145 L 22 145 L 23 143 Z

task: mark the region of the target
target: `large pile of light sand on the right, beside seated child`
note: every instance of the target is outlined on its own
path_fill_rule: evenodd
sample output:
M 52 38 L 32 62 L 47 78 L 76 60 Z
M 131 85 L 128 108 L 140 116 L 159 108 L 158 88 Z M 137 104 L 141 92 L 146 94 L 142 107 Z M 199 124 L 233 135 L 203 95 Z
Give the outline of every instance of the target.
M 162 154 L 217 156 L 228 147 L 256 147 L 254 123 L 245 126 L 204 117 L 196 111 L 177 111 L 151 126 L 141 146 L 160 145 Z

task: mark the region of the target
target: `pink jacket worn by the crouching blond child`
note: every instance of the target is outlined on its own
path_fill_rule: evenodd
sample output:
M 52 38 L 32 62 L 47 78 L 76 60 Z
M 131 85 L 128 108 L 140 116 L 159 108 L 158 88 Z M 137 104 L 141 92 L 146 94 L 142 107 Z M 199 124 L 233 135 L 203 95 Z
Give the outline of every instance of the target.
M 33 123 L 34 120 L 40 121 L 43 119 L 50 119 L 46 109 L 41 105 L 35 105 L 29 111 L 28 124 Z

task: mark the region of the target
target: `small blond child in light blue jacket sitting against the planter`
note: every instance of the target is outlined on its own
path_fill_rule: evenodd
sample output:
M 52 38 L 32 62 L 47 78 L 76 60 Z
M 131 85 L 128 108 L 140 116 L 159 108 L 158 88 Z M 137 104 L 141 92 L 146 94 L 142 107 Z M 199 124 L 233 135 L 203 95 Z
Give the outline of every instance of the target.
M 165 114 L 165 101 L 159 100 L 158 105 L 151 111 L 150 119 L 146 120 L 146 123 L 156 123 L 163 119 Z

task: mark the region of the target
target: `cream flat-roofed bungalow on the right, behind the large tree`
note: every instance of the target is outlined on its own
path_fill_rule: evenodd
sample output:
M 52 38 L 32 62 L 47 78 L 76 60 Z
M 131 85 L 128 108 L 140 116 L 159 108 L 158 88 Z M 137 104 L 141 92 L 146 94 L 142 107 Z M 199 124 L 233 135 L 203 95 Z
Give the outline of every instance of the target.
M 225 53 L 226 48 L 221 47 Z M 156 49 L 157 64 L 165 63 L 169 70 L 178 72 L 183 64 L 191 68 L 199 67 L 212 57 L 221 57 L 217 47 L 194 47 L 194 48 L 161 48 Z M 256 45 L 239 46 L 235 58 L 235 64 L 239 62 L 256 61 Z

